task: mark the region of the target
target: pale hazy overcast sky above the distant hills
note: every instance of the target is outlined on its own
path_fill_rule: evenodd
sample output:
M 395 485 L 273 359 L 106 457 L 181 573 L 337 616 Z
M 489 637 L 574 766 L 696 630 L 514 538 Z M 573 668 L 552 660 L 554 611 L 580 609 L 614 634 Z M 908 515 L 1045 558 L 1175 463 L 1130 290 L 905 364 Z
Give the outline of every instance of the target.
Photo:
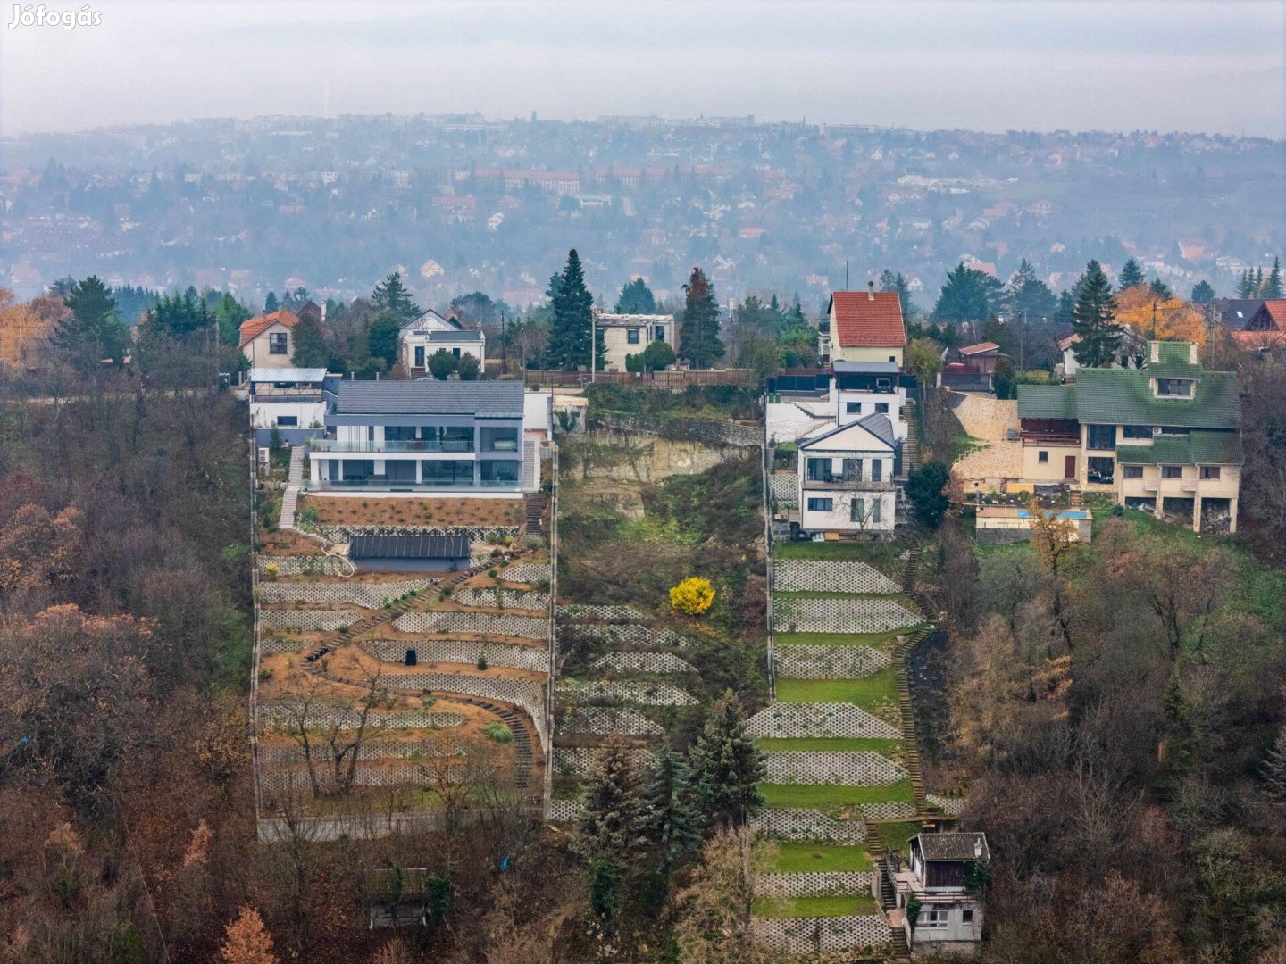
M 10 30 L 4 0 L 0 132 L 329 109 L 1286 136 L 1282 0 L 91 8 Z

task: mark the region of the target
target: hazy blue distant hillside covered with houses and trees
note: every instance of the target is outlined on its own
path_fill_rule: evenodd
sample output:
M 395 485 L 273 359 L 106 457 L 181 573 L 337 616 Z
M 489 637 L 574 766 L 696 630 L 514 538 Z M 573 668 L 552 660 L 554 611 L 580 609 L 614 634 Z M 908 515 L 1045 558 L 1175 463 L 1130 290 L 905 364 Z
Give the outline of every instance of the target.
M 63 276 L 350 298 L 401 270 L 423 305 L 518 312 L 577 248 L 611 305 L 631 278 L 721 305 L 901 271 L 921 308 L 963 261 L 1028 258 L 1056 292 L 1133 257 L 1177 293 L 1233 294 L 1286 248 L 1286 143 L 1204 134 L 981 134 L 752 117 L 213 118 L 0 140 L 0 284 Z

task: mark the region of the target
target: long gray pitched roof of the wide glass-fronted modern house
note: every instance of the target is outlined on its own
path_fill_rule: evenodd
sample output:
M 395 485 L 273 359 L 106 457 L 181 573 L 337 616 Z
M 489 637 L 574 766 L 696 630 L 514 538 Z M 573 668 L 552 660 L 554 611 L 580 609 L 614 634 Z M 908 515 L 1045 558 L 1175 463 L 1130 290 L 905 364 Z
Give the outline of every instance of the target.
M 522 418 L 522 382 L 342 382 L 334 414 Z

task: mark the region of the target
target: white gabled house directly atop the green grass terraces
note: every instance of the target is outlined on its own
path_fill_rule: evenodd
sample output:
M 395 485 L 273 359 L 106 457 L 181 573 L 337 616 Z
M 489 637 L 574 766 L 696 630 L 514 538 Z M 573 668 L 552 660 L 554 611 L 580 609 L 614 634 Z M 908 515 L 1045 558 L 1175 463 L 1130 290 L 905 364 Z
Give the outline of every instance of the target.
M 800 530 L 892 532 L 898 509 L 896 461 L 898 442 L 883 413 L 800 441 Z

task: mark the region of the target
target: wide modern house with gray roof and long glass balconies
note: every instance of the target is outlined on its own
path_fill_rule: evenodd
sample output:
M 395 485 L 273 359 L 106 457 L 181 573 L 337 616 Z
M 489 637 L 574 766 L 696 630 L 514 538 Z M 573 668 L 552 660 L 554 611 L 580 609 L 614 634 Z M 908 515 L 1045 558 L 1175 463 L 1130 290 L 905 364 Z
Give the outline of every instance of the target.
M 340 382 L 307 442 L 316 495 L 520 499 L 540 487 L 521 382 Z

